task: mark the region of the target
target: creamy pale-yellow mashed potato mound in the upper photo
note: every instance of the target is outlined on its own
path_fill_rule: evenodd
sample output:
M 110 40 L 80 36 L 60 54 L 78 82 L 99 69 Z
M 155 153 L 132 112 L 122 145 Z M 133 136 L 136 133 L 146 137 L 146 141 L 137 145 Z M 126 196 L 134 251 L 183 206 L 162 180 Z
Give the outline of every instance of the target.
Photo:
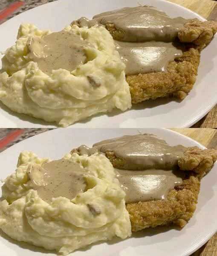
M 50 73 L 39 68 L 29 52 L 31 38 L 45 38 L 31 24 L 20 26 L 16 44 L 6 50 L 0 74 L 0 101 L 13 111 L 26 113 L 63 127 L 113 108 L 131 108 L 125 65 L 110 33 L 102 26 L 68 26 L 64 32 L 79 36 L 86 62 L 74 70 L 58 68 Z

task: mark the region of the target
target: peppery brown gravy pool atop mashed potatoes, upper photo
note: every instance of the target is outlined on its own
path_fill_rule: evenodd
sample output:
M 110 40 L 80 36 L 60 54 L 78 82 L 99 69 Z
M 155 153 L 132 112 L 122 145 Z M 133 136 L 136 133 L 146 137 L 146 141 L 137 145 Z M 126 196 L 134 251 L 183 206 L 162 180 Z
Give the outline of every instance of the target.
M 52 70 L 66 69 L 70 72 L 86 62 L 84 47 L 87 41 L 72 32 L 60 31 L 42 38 L 32 37 L 27 42 L 29 57 L 38 63 L 44 73 Z

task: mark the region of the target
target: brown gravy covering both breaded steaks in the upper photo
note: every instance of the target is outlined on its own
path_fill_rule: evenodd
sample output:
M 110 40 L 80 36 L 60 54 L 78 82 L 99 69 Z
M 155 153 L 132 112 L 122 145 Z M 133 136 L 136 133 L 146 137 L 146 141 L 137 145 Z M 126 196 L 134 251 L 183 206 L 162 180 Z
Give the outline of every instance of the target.
M 188 20 L 171 18 L 151 6 L 125 7 L 95 15 L 93 20 L 81 17 L 72 24 L 90 28 L 96 24 L 113 24 L 122 31 L 116 50 L 126 64 L 126 75 L 167 71 L 169 62 L 182 56 L 173 42 Z

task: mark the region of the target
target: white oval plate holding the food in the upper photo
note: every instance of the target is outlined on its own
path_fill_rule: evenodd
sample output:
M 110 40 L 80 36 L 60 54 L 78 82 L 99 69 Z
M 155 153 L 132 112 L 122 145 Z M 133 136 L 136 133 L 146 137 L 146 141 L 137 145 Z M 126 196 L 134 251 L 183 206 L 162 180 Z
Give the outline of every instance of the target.
M 140 0 L 140 4 L 156 6 L 173 17 L 203 17 L 182 6 L 164 0 Z M 40 29 L 61 30 L 72 20 L 81 16 L 92 18 L 103 11 L 136 6 L 132 0 L 60 0 L 24 12 L 0 26 L 0 51 L 12 46 L 20 23 L 34 23 Z M 1 68 L 1 67 L 0 67 Z M 200 120 L 217 103 L 217 37 L 203 50 L 197 82 L 182 102 L 171 99 L 157 99 L 134 105 L 129 111 L 113 111 L 99 114 L 78 122 L 73 127 L 97 128 L 143 128 L 143 127 L 190 127 Z M 0 127 L 54 127 L 53 124 L 16 114 L 0 105 Z

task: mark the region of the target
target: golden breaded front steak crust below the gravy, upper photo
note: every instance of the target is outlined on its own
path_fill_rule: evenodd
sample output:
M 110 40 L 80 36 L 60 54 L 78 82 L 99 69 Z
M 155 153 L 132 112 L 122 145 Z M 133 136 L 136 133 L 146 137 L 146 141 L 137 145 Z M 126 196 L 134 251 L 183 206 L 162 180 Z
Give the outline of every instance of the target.
M 199 51 L 190 48 L 168 64 L 167 72 L 126 76 L 132 103 L 166 96 L 184 99 L 196 81 L 199 63 Z

